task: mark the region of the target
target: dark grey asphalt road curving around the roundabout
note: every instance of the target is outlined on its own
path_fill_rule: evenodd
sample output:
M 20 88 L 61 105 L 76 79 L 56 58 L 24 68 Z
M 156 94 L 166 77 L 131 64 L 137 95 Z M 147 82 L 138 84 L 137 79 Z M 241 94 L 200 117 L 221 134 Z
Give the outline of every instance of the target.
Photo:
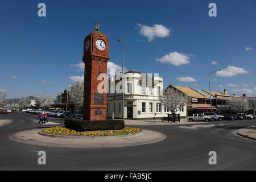
M 236 135 L 254 121 L 217 121 L 192 125 L 135 126 L 167 135 L 161 142 L 117 148 L 59 148 L 16 143 L 10 135 L 54 125 L 35 123 L 37 115 L 0 114 L 11 119 L 0 127 L 0 170 L 255 170 L 256 142 Z M 61 123 L 57 118 L 50 121 Z M 38 164 L 38 151 L 46 152 L 46 165 Z M 217 164 L 210 165 L 209 151 Z

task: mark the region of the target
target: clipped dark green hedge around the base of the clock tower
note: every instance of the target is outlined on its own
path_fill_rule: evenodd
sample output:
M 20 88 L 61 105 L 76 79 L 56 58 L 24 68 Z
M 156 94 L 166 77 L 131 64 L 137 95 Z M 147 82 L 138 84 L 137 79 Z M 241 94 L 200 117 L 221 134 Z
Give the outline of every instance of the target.
M 81 119 L 65 119 L 65 128 L 76 131 L 122 130 L 123 120 L 86 121 Z

